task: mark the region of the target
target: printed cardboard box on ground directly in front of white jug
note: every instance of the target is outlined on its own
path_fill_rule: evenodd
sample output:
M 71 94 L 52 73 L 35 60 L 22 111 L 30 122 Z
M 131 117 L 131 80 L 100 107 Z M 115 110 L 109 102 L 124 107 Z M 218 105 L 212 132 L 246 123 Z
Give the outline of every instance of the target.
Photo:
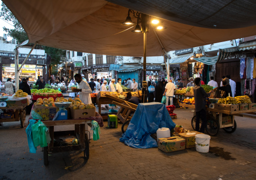
M 185 149 L 185 139 L 179 136 L 159 138 L 157 144 L 158 148 L 164 152 L 174 152 Z

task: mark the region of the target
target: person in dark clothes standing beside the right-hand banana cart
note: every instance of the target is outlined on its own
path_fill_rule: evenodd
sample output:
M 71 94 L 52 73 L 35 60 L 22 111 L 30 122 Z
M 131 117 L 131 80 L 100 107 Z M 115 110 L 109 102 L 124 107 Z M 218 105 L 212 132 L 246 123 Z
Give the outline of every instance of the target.
M 196 86 L 194 87 L 195 96 L 195 111 L 196 111 L 196 131 L 204 133 L 206 127 L 206 108 L 205 98 L 209 97 L 212 91 L 206 93 L 204 88 L 201 87 L 201 79 L 195 79 Z M 201 128 L 199 129 L 200 118 L 202 120 Z

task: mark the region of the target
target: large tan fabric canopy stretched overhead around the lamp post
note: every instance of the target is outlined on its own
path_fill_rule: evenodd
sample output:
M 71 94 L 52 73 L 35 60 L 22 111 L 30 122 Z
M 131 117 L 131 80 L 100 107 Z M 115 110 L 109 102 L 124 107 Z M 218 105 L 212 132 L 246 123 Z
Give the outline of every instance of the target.
M 149 28 L 147 56 L 161 56 L 163 48 L 168 52 L 253 36 L 256 29 L 256 4 L 249 0 L 3 2 L 25 29 L 29 43 L 93 54 L 143 56 L 143 34 L 120 24 L 129 8 L 166 19 L 166 30 L 155 34 Z M 137 22 L 132 14 L 131 18 Z

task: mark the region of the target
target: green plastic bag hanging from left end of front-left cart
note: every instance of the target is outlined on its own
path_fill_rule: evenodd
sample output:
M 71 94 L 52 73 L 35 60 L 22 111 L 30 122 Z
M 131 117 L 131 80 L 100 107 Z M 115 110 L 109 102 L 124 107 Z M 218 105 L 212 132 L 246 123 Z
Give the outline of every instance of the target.
M 46 147 L 51 141 L 48 128 L 41 120 L 32 125 L 32 137 L 35 147 Z

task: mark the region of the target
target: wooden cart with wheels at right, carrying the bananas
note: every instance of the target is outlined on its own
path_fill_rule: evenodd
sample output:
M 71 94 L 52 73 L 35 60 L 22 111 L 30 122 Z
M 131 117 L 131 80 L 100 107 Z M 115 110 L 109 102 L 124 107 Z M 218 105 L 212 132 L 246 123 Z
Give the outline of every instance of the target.
M 191 104 L 180 104 L 182 107 L 194 108 L 195 105 Z M 207 111 L 207 127 L 206 131 L 209 135 L 217 135 L 220 128 L 223 128 L 226 132 L 232 133 L 236 130 L 236 122 L 234 116 L 251 117 L 256 118 L 256 109 L 250 110 L 237 110 L 237 111 L 227 111 L 215 108 L 206 108 Z M 230 123 L 223 123 L 224 115 L 231 116 Z M 201 124 L 201 122 L 200 122 Z M 194 111 L 194 117 L 191 119 L 191 125 L 194 130 L 196 130 L 196 111 Z

